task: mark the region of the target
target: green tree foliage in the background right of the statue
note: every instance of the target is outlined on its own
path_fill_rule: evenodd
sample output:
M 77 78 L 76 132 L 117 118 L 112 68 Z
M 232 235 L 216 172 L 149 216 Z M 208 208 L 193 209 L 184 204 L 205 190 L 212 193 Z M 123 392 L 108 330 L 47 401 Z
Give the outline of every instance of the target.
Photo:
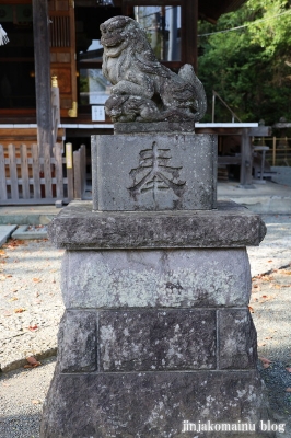
M 236 26 L 243 27 L 214 33 Z M 291 0 L 248 0 L 216 26 L 201 22 L 198 33 L 212 33 L 199 37 L 199 78 L 209 103 L 206 122 L 211 120 L 212 90 L 243 122 L 291 120 Z M 231 120 L 221 103 L 216 120 Z

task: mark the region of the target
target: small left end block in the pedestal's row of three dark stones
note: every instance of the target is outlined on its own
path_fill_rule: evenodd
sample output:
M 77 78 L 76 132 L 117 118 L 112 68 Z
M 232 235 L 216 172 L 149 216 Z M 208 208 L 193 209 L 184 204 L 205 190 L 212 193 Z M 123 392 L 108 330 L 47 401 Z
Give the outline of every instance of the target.
M 61 372 L 96 369 L 96 312 L 67 310 L 58 334 L 58 362 Z

